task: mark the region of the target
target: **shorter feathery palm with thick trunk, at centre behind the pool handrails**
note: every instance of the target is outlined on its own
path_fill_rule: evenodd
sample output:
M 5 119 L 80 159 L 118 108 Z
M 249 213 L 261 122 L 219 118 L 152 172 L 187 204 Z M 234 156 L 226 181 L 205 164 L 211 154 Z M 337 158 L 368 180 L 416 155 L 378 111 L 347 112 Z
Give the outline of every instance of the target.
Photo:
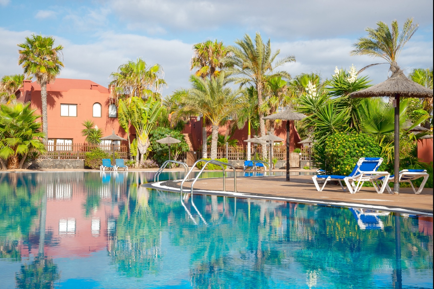
M 178 113 L 201 114 L 211 122 L 212 139 L 210 158 L 217 158 L 217 137 L 219 125 L 230 116 L 235 115 L 243 107 L 244 99 L 239 97 L 239 89 L 232 90 L 225 86 L 226 75 L 220 72 L 218 76 L 203 79 L 190 76 L 191 89 L 179 90 L 182 105 Z M 206 145 L 206 141 L 203 145 Z

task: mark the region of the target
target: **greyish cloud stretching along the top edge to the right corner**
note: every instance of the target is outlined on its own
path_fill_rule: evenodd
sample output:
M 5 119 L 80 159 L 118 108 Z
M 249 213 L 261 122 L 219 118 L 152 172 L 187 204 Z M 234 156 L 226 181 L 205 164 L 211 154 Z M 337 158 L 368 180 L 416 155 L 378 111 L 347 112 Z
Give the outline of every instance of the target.
M 272 36 L 296 39 L 336 37 L 362 33 L 366 26 L 414 16 L 432 26 L 433 1 L 421 0 L 112 0 L 112 10 L 132 29 L 150 30 L 260 30 Z

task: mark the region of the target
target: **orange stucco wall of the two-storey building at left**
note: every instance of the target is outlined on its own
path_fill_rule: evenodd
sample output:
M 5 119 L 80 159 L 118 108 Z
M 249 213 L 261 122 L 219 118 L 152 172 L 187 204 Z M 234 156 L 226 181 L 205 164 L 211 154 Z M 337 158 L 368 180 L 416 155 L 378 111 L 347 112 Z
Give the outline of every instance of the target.
M 19 101 L 32 103 L 42 114 L 41 88 L 36 82 L 25 81 L 17 95 Z M 93 117 L 92 107 L 95 102 L 102 106 L 101 117 Z M 76 104 L 77 116 L 60 116 L 60 104 Z M 109 118 L 109 89 L 90 80 L 56 79 L 47 85 L 48 138 L 72 138 L 73 143 L 85 142 L 81 135 L 85 120 L 92 120 L 103 130 L 103 135 L 111 135 L 112 130 L 123 138 L 125 131 L 119 126 L 117 118 Z

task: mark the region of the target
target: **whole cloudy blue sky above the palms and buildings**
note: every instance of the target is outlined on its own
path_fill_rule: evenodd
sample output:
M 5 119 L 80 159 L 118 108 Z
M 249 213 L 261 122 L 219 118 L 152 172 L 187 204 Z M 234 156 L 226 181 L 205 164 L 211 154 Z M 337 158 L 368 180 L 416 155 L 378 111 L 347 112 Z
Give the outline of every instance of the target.
M 270 38 L 295 76 L 319 72 L 329 77 L 335 66 L 357 68 L 382 62 L 349 56 L 351 45 L 378 20 L 403 23 L 414 17 L 419 30 L 398 64 L 406 72 L 433 66 L 433 1 L 209 1 L 209 0 L 0 0 L 0 76 L 20 73 L 16 44 L 31 33 L 51 35 L 65 46 L 60 77 L 91 79 L 102 85 L 122 63 L 142 57 L 163 66 L 168 88 L 188 86 L 194 43 L 223 40 L 230 45 L 244 33 Z M 373 82 L 387 79 L 388 66 L 365 70 Z

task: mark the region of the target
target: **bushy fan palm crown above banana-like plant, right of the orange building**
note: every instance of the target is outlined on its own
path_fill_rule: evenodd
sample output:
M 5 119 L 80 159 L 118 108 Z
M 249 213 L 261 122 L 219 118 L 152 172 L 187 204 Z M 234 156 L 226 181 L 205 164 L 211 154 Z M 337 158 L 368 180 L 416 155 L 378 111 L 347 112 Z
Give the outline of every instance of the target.
M 141 58 L 122 64 L 110 76 L 113 77 L 110 86 L 114 88 L 112 93 L 116 102 L 133 96 L 143 99 L 149 96 L 160 98 L 161 89 L 167 86 L 163 68 L 159 64 L 148 66 Z

